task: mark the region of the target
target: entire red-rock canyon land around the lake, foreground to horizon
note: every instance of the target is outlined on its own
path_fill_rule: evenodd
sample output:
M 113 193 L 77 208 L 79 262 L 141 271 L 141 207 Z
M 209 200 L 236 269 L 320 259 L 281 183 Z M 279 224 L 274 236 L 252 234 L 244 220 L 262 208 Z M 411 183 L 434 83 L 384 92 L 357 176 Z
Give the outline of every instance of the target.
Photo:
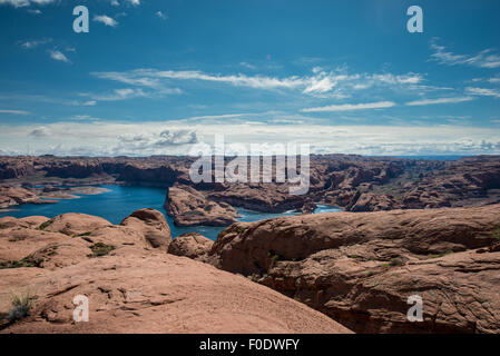
M 100 182 L 151 185 L 168 188 L 174 224 L 226 227 L 215 241 L 173 240 L 153 209 L 118 225 L 81 214 L 0 218 L 4 332 L 500 333 L 498 156 L 312 156 L 304 196 L 287 184 L 195 185 L 186 157 L 0 161 L 3 207 Z M 310 214 L 317 204 L 343 211 Z M 301 215 L 242 222 L 236 207 Z M 7 290 L 27 288 L 33 312 L 4 322 Z M 97 300 L 97 322 L 114 322 L 75 325 L 75 294 Z M 423 322 L 406 318 L 414 295 Z

